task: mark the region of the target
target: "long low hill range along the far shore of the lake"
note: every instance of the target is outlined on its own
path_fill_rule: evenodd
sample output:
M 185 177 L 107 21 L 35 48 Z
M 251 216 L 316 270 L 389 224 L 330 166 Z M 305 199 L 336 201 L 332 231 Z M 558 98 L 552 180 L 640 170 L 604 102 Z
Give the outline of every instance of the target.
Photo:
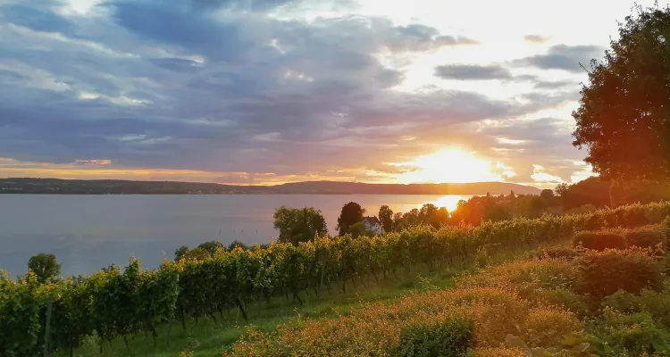
M 466 184 L 364 184 L 356 182 L 306 181 L 277 186 L 234 186 L 178 181 L 128 181 L 116 179 L 0 179 L 0 194 L 56 195 L 231 195 L 231 194 L 322 194 L 322 195 L 538 195 L 540 189 L 507 182 Z

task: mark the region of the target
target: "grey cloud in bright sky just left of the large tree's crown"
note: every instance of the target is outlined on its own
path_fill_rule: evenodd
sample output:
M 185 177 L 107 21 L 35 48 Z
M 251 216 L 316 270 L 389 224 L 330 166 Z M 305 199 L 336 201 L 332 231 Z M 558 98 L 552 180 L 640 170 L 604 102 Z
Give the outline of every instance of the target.
M 591 59 L 599 59 L 604 55 L 605 48 L 600 46 L 566 46 L 549 47 L 547 54 L 537 54 L 515 61 L 518 66 L 532 66 L 543 70 L 563 70 L 570 72 L 583 71 L 580 63 L 587 64 Z

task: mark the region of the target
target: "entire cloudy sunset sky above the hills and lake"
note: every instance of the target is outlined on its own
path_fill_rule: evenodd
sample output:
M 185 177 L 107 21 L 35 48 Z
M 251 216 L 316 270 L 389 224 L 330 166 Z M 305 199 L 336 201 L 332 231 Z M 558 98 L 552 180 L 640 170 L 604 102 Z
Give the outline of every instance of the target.
M 580 62 L 631 7 L 0 0 L 0 177 L 576 182 Z

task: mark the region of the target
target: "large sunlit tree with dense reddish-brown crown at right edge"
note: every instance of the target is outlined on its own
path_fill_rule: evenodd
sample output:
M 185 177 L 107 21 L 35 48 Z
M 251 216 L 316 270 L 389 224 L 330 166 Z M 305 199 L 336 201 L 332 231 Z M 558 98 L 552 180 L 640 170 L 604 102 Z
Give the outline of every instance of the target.
M 591 61 L 573 145 L 603 179 L 670 176 L 670 7 L 637 7 L 604 62 Z

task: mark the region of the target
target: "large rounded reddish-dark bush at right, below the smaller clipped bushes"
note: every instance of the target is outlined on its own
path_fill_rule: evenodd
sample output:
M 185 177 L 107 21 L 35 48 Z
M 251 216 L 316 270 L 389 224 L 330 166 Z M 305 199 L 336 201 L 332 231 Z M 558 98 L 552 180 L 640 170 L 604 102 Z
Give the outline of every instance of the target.
M 662 266 L 639 250 L 591 251 L 575 262 L 579 270 L 577 291 L 598 299 L 619 289 L 639 294 L 644 288 L 663 287 Z

